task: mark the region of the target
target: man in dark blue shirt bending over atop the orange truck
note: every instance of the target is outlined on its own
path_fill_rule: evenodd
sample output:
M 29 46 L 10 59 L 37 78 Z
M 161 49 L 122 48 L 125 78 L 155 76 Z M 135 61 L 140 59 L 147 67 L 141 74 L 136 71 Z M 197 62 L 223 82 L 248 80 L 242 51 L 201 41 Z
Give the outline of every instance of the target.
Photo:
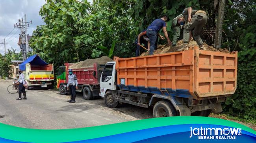
M 168 33 L 166 31 L 166 23 L 168 17 L 167 15 L 163 15 L 161 18 L 154 20 L 147 29 L 147 36 L 150 40 L 150 54 L 154 54 L 154 49 L 156 47 L 156 40 L 158 32 L 163 28 L 163 33 L 165 38 L 168 41 L 168 44 L 171 45 L 171 40 L 168 37 Z

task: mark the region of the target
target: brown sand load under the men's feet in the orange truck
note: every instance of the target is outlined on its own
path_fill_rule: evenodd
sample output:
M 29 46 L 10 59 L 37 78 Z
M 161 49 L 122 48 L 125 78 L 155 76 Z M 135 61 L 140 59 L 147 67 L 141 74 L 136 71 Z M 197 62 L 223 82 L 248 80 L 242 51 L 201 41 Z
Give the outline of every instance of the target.
M 183 40 L 179 40 L 176 43 L 176 46 L 171 47 L 168 46 L 168 44 L 165 45 L 158 45 L 156 51 L 154 51 L 154 54 L 163 54 L 163 53 L 167 53 L 167 52 L 177 52 L 178 49 L 182 48 L 183 45 Z M 191 39 L 191 41 L 189 42 L 189 47 L 192 47 L 192 49 L 194 48 L 194 46 L 198 46 L 197 42 L 194 41 L 193 39 Z M 199 46 L 198 46 L 199 47 Z M 228 51 L 228 49 L 215 49 L 213 46 L 209 46 L 206 43 L 204 43 L 204 47 L 206 47 L 207 51 L 216 51 L 216 52 L 226 52 L 226 53 L 230 53 Z M 141 54 L 141 56 L 147 56 L 149 55 L 149 51 L 147 52 L 143 52 Z

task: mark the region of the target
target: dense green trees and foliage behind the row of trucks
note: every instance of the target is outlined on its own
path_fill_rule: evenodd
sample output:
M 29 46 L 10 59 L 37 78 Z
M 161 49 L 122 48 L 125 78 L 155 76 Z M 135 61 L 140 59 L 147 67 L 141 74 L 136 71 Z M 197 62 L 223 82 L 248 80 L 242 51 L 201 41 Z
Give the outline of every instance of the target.
M 218 11 L 216 2 L 218 0 L 93 0 L 90 5 L 87 0 L 47 0 L 39 13 L 45 25 L 34 31 L 30 46 L 55 67 L 103 55 L 130 57 L 134 56 L 137 34 L 152 20 L 161 14 L 173 19 L 190 6 L 207 12 L 208 22 L 201 36 L 211 45 Z M 254 0 L 227 0 L 223 24 L 222 47 L 239 51 L 237 90 L 226 101 L 224 111 L 247 119 L 255 119 L 256 115 L 255 8 Z M 172 38 L 171 21 L 167 22 L 167 31 Z

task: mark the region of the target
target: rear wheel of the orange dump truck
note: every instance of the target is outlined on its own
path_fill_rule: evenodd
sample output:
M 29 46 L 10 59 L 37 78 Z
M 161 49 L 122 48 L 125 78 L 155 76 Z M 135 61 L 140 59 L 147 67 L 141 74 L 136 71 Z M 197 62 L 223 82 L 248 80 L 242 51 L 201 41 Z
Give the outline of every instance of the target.
M 176 110 L 168 101 L 158 101 L 153 108 L 154 118 L 176 116 Z

